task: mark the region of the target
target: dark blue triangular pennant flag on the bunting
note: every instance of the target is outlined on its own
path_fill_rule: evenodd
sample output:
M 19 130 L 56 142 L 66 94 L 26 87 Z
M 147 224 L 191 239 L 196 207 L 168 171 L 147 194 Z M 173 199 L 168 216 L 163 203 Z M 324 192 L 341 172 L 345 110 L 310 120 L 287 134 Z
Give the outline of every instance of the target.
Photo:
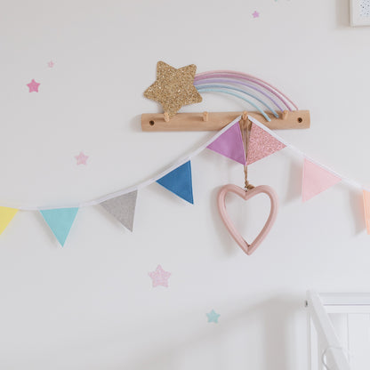
M 171 173 L 167 173 L 164 177 L 157 180 L 157 183 L 189 203 L 194 204 L 190 161 L 175 168 Z

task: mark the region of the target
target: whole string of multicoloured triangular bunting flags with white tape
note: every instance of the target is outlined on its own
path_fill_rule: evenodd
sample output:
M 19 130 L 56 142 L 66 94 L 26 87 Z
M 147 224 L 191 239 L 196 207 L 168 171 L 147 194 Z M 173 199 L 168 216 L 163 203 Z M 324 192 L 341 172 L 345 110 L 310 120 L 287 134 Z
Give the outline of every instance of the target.
M 261 125 L 261 123 L 253 117 L 249 117 L 249 119 L 252 121 L 253 125 L 248 145 L 247 164 L 252 164 L 259 159 L 267 157 L 277 150 L 286 147 L 294 150 L 302 156 L 305 156 L 302 151 L 285 142 L 284 139 L 280 138 L 276 133 L 273 133 L 266 126 Z M 222 156 L 229 157 L 241 164 L 244 164 L 243 160 L 245 152 L 238 120 L 239 118 L 235 119 L 228 126 L 224 127 L 220 133 L 216 133 L 211 140 L 207 141 L 202 147 L 196 149 L 187 157 L 194 157 L 203 149 L 207 148 L 221 154 Z M 0 234 L 4 231 L 9 222 L 12 221 L 12 218 L 19 209 L 23 211 L 37 210 L 43 215 L 44 221 L 47 222 L 60 245 L 64 245 L 68 237 L 68 233 L 76 219 L 78 209 L 88 205 L 101 205 L 108 213 L 114 216 L 117 221 L 123 224 L 126 229 L 133 231 L 133 220 L 138 189 L 148 186 L 155 181 L 190 204 L 194 203 L 190 160 L 185 162 L 183 165 L 179 165 L 170 171 L 167 170 L 164 173 L 165 174 L 158 175 L 156 178 L 142 182 L 133 188 L 132 191 L 121 190 L 112 195 L 101 197 L 100 199 L 80 203 L 75 207 L 61 207 L 39 211 L 39 207 L 35 206 L 0 206 Z M 306 202 L 311 197 L 315 197 L 340 181 L 346 181 L 355 188 L 362 189 L 366 229 L 367 233 L 370 235 L 370 189 L 366 189 L 358 182 L 343 177 L 342 175 L 335 173 L 333 170 L 326 168 L 324 165 L 311 161 L 307 157 L 305 157 L 303 161 L 302 201 Z

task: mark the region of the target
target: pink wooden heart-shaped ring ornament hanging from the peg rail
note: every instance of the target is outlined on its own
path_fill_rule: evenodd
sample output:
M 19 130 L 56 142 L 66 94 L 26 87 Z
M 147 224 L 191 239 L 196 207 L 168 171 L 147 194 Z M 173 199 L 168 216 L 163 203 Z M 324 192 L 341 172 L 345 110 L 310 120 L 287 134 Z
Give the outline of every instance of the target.
M 229 214 L 226 211 L 226 204 L 225 204 L 225 197 L 226 195 L 231 192 L 237 194 L 237 196 L 242 197 L 245 201 L 250 199 L 251 197 L 255 197 L 257 194 L 263 193 L 269 197 L 270 200 L 270 210 L 269 210 L 269 217 L 264 224 L 263 228 L 260 231 L 260 234 L 255 237 L 251 244 L 248 244 L 245 239 L 240 235 L 237 231 L 236 227 L 229 219 Z M 237 242 L 237 244 L 242 248 L 242 250 L 250 255 L 252 254 L 257 247 L 261 244 L 263 239 L 269 234 L 269 230 L 272 228 L 276 218 L 277 218 L 277 208 L 278 208 L 278 198 L 277 193 L 274 189 L 270 188 L 268 185 L 260 185 L 248 191 L 245 189 L 239 188 L 237 185 L 228 184 L 221 188 L 219 195 L 217 197 L 217 204 L 219 208 L 219 212 L 221 215 L 221 219 L 226 226 L 226 229 L 229 230 L 231 237 Z

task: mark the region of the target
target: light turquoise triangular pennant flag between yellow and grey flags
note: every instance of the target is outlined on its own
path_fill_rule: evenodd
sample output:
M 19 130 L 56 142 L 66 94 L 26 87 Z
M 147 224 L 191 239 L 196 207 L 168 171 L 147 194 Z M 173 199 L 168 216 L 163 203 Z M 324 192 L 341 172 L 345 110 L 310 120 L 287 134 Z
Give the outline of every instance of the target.
M 40 211 L 52 233 L 63 246 L 68 237 L 73 221 L 75 221 L 78 208 L 55 208 Z

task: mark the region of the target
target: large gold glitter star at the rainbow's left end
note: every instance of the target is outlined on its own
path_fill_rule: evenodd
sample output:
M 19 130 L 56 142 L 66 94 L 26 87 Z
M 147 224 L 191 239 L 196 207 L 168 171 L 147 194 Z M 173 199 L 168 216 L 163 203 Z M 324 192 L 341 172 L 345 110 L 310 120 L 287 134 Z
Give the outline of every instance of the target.
M 164 61 L 158 61 L 157 80 L 144 92 L 144 96 L 158 101 L 172 117 L 182 106 L 202 101 L 194 86 L 196 70 L 195 64 L 176 69 Z

